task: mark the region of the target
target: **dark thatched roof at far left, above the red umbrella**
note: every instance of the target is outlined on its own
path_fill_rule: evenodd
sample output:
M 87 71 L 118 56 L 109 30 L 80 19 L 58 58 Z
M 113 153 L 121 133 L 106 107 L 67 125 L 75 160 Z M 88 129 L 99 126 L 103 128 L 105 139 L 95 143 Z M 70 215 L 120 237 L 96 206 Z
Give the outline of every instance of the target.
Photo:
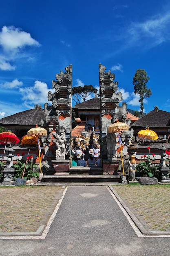
M 22 111 L 0 119 L 0 126 L 42 126 L 45 120 L 45 110 L 42 108 L 33 108 Z

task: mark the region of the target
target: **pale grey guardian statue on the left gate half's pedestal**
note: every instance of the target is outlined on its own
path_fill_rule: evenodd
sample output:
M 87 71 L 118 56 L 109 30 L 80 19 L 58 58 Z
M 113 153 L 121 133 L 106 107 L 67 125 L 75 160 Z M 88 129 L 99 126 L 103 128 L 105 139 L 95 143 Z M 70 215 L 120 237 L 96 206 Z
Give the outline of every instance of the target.
M 65 159 L 65 144 L 66 144 L 66 137 L 65 137 L 65 128 L 64 127 L 56 127 L 56 151 L 55 156 L 56 159 Z

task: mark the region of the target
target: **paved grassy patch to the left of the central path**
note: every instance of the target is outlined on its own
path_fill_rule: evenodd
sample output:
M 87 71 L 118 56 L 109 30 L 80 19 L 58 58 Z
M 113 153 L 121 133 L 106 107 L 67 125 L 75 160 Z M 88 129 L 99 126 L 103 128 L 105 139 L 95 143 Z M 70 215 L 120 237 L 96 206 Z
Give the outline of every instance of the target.
M 0 233 L 35 232 L 46 225 L 65 186 L 0 187 Z

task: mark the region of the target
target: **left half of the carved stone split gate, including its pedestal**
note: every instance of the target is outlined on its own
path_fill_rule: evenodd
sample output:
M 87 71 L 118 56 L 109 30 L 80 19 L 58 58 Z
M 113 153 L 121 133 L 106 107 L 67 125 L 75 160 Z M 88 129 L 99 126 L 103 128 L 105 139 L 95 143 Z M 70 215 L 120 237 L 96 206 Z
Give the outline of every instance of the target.
M 49 155 L 52 156 L 51 162 L 57 173 L 68 173 L 70 166 L 72 65 L 65 70 L 66 72 L 60 71 L 60 74 L 56 74 L 56 80 L 52 81 L 55 92 L 48 92 L 48 100 L 52 105 L 44 105 L 46 123 L 51 135 Z

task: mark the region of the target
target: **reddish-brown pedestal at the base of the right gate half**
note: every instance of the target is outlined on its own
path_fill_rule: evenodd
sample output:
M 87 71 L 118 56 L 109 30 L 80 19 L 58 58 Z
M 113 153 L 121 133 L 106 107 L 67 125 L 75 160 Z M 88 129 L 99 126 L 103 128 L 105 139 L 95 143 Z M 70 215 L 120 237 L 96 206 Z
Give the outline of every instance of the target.
M 118 175 L 117 169 L 119 164 L 121 164 L 121 160 L 119 159 L 103 160 L 103 173 Z

